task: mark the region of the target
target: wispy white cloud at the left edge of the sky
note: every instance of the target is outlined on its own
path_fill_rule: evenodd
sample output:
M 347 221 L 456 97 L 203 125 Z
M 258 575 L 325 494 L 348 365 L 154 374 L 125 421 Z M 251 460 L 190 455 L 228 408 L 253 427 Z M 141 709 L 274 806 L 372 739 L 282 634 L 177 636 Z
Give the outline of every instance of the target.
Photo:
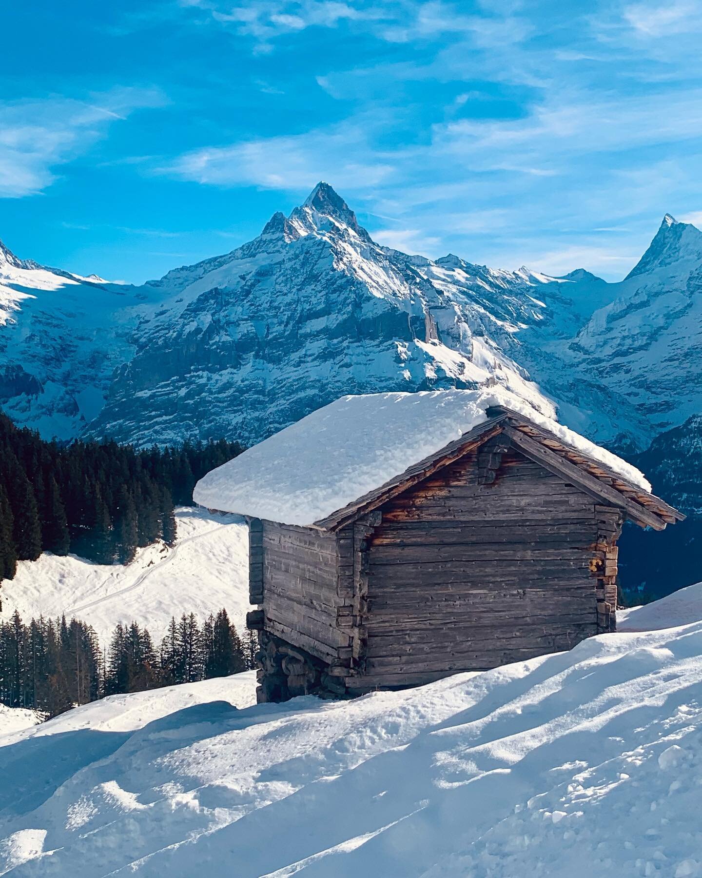
M 85 99 L 0 101 L 0 197 L 21 198 L 54 182 L 55 169 L 82 155 L 115 120 L 164 104 L 157 89 L 115 88 Z

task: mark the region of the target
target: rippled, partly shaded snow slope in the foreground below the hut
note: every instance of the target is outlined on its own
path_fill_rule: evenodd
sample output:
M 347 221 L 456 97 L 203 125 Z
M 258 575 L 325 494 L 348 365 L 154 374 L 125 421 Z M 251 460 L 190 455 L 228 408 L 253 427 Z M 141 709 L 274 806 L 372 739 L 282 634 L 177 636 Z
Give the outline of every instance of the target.
M 696 623 L 352 702 L 235 709 L 254 680 L 233 677 L 193 684 L 190 707 L 184 687 L 90 704 L 0 742 L 0 863 L 13 878 L 699 876 L 701 656 Z

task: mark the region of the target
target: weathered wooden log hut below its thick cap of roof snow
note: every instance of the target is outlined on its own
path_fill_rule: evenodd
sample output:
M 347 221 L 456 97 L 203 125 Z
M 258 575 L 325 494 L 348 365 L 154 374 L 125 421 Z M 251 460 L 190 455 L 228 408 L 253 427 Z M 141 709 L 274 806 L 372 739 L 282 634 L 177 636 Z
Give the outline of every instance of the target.
M 259 700 L 412 686 L 614 630 L 622 523 L 684 516 L 606 460 L 491 407 L 309 525 L 249 515 Z

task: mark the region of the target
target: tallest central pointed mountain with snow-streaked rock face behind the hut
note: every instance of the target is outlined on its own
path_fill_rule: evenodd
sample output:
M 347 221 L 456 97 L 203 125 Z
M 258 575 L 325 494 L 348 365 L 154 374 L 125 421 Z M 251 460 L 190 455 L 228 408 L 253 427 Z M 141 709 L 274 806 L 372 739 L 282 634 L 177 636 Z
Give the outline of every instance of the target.
M 251 443 L 344 393 L 490 381 L 551 410 L 515 336 L 577 323 L 570 285 L 380 247 L 319 184 L 254 241 L 147 284 L 168 298 L 141 317 L 90 434 Z

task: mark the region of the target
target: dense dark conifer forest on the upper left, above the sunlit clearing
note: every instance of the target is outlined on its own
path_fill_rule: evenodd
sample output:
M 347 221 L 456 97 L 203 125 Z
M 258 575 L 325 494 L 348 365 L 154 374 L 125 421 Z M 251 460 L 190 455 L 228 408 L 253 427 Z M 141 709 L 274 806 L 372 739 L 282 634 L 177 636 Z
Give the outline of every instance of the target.
M 190 506 L 197 480 L 242 450 L 224 439 L 148 450 L 61 447 L 0 414 L 0 580 L 42 551 L 127 564 L 139 546 L 173 543 L 173 507 Z

